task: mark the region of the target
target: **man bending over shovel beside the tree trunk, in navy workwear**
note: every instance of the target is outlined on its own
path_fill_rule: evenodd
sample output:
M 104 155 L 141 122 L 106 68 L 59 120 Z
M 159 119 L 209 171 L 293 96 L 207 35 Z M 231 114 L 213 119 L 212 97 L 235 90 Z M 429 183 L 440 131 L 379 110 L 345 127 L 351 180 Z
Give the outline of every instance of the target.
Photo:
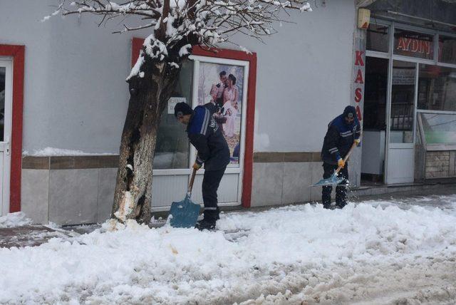
M 220 212 L 217 205 L 217 190 L 229 164 L 227 141 L 206 107 L 197 106 L 195 110 L 192 110 L 187 103 L 177 103 L 174 111 L 177 120 L 187 125 L 186 131 L 190 143 L 198 151 L 193 168 L 199 170 L 204 163 L 202 180 L 204 217 L 197 222 L 196 228 L 200 230 L 215 229 L 215 222 L 219 219 Z

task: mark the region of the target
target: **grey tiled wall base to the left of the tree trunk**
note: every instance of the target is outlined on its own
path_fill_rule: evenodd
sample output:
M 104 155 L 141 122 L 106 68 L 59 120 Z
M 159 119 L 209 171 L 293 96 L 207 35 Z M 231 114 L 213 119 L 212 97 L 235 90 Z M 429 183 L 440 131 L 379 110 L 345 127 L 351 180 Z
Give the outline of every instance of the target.
M 21 210 L 36 224 L 104 222 L 113 205 L 116 168 L 22 170 Z

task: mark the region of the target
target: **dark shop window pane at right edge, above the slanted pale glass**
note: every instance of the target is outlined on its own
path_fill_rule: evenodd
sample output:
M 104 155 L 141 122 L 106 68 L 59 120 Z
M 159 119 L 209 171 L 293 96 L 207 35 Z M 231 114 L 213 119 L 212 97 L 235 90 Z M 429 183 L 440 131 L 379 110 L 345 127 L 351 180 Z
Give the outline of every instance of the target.
M 456 68 L 420 64 L 418 109 L 456 111 Z

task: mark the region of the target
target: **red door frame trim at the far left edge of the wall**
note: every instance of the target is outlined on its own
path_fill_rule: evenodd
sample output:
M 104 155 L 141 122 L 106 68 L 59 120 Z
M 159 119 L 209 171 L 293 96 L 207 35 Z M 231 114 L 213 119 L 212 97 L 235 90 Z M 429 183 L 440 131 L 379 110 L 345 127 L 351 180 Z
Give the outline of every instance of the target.
M 11 172 L 9 212 L 21 210 L 22 113 L 24 111 L 25 46 L 0 44 L 0 56 L 13 57 L 13 122 L 11 130 Z

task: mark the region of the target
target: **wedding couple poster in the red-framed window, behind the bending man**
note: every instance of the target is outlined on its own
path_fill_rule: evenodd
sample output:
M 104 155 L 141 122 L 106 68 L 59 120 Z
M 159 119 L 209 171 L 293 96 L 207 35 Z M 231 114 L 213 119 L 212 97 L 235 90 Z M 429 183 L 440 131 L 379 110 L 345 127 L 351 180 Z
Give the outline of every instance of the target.
M 227 140 L 231 162 L 239 166 L 244 67 L 199 63 L 198 105 L 206 105 Z

